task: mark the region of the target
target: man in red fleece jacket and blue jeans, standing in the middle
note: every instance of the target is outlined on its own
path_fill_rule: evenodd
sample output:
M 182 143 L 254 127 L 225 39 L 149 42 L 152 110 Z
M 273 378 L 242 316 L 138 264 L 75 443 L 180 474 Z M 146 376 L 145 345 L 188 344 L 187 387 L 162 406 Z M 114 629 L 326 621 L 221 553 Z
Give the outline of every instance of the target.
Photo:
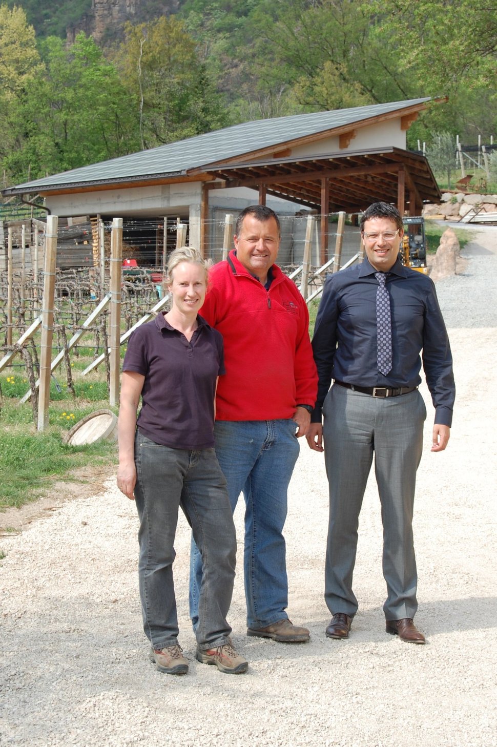
M 244 493 L 247 635 L 309 640 L 286 613 L 283 526 L 297 438 L 309 428 L 317 374 L 309 313 L 297 286 L 275 263 L 280 221 L 265 205 L 238 216 L 235 250 L 210 274 L 200 314 L 224 338 L 226 376 L 216 395 L 215 450 L 235 510 Z M 190 614 L 194 627 L 202 563 L 192 543 Z

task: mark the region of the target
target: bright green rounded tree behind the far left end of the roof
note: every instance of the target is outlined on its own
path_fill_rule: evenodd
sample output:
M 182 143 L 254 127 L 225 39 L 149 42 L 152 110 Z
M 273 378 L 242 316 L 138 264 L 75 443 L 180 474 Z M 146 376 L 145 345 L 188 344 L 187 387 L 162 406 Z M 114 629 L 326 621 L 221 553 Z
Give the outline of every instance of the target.
M 139 148 L 138 126 L 117 71 L 91 38 L 67 49 L 48 37 L 44 64 L 26 81 L 22 102 L 9 108 L 12 139 L 3 166 L 22 182 Z

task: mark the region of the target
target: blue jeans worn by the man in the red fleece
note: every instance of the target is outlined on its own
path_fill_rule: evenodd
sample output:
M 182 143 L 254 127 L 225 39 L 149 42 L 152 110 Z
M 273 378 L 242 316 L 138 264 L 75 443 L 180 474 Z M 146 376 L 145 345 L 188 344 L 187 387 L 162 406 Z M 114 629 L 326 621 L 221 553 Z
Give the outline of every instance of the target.
M 288 617 L 283 526 L 288 483 L 299 454 L 295 424 L 292 420 L 216 421 L 214 439 L 232 511 L 242 491 L 245 498 L 247 625 L 266 627 Z M 193 538 L 190 616 L 194 629 L 199 621 L 202 580 L 202 559 Z

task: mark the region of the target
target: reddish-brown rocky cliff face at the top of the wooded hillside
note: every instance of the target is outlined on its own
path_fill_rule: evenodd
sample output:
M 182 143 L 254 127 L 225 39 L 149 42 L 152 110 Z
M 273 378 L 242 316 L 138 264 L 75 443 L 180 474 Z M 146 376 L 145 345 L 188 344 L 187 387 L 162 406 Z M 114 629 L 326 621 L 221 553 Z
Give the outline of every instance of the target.
M 93 36 L 97 43 L 121 36 L 126 21 L 141 22 L 176 13 L 179 0 L 92 0 L 91 10 L 78 23 L 67 28 L 72 43 L 78 31 Z

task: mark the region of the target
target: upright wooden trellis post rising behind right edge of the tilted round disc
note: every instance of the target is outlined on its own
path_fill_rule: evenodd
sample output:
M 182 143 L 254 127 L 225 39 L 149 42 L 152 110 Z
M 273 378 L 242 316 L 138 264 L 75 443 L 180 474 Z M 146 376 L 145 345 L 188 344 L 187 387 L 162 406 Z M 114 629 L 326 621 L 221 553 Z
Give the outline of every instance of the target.
M 123 265 L 123 218 L 114 218 L 111 232 L 111 381 L 109 404 L 119 400 L 120 338 L 121 338 L 121 273 Z

